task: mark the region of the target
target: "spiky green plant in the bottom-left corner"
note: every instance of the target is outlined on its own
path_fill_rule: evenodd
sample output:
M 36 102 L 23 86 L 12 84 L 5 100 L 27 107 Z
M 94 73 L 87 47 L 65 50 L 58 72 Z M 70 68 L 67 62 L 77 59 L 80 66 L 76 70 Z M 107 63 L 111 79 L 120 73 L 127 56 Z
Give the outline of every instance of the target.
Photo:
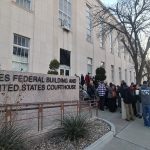
M 1 124 L 0 150 L 27 150 L 24 129 L 16 125 Z

